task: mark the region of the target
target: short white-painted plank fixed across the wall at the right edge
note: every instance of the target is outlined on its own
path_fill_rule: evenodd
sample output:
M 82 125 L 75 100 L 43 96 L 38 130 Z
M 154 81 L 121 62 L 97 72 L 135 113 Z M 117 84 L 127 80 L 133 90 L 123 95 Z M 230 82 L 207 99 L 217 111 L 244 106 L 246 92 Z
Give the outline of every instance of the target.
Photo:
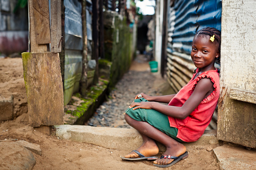
M 256 92 L 239 88 L 231 88 L 229 97 L 231 99 L 256 104 Z

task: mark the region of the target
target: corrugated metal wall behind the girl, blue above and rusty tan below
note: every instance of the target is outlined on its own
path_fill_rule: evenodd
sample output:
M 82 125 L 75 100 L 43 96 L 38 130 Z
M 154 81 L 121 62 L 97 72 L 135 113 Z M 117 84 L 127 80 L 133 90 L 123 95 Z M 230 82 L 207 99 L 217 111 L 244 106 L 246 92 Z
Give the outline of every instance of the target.
M 221 0 L 171 1 L 167 18 L 166 75 L 175 92 L 189 82 L 196 69 L 190 57 L 194 35 L 205 27 L 221 30 L 221 10 Z M 215 111 L 208 128 L 216 129 L 216 122 Z

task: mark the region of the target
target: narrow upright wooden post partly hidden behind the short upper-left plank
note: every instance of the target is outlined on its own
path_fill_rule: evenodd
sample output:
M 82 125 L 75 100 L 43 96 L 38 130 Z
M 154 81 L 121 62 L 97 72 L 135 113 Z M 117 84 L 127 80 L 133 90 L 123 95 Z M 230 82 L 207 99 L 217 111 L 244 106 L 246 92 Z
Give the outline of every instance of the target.
M 36 43 L 36 31 L 34 25 L 33 0 L 29 0 L 29 42 L 30 52 L 47 52 L 47 45 Z

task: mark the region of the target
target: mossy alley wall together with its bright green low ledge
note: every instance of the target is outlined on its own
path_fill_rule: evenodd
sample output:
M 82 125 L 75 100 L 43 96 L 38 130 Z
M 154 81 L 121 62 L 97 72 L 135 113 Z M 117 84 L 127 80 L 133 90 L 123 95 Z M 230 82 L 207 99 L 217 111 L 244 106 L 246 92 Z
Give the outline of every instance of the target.
M 106 93 L 128 71 L 135 54 L 133 34 L 136 29 L 131 29 L 126 18 L 117 13 L 108 11 L 103 16 L 105 59 L 98 61 L 100 81 L 87 90 L 86 96 L 81 97 L 79 93 L 73 95 L 65 106 L 64 124 L 82 125 L 88 121 L 105 100 Z

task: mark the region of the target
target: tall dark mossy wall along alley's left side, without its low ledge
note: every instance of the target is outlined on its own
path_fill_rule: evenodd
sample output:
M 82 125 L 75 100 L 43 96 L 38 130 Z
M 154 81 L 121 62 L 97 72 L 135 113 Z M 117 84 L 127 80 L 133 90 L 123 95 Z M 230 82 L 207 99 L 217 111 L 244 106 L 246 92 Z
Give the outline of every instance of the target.
M 109 88 L 128 71 L 134 56 L 133 29 L 126 18 L 106 11 L 104 16 L 105 59 L 112 62 Z

